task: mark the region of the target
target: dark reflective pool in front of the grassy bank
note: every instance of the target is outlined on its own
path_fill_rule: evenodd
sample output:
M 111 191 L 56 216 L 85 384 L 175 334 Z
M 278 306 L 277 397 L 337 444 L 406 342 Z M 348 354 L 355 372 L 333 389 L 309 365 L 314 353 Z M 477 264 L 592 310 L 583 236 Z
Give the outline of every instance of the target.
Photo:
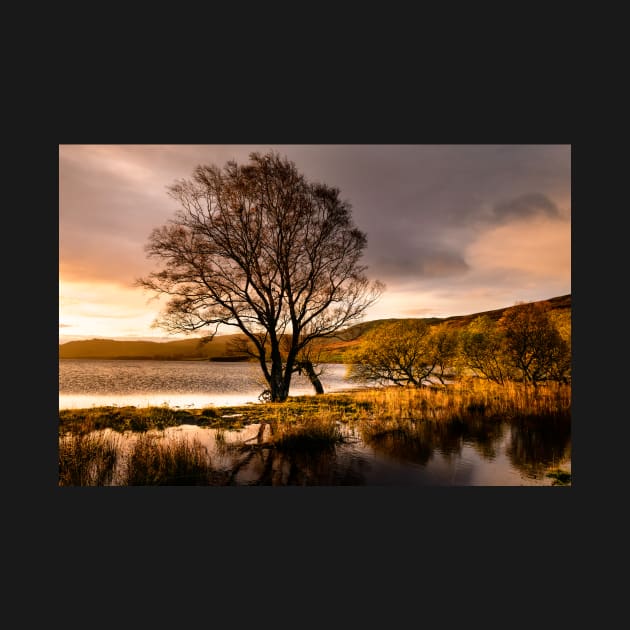
M 198 483 L 214 486 L 552 485 L 546 473 L 571 464 L 570 422 L 548 418 L 398 421 L 378 431 L 342 425 L 342 433 L 336 446 L 287 449 L 270 444 L 269 425 L 157 432 L 166 441 L 198 441 L 211 468 Z M 131 452 L 134 440 L 138 434 L 123 437 L 123 450 Z M 120 460 L 113 485 L 128 485 Z

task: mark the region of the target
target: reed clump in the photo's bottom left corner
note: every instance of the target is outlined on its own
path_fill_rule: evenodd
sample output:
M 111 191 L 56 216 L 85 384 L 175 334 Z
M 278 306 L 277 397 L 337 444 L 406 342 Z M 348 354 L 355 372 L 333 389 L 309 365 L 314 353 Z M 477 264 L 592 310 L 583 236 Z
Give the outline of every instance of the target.
M 59 438 L 59 485 L 105 486 L 111 483 L 120 438 L 111 433 L 69 434 Z

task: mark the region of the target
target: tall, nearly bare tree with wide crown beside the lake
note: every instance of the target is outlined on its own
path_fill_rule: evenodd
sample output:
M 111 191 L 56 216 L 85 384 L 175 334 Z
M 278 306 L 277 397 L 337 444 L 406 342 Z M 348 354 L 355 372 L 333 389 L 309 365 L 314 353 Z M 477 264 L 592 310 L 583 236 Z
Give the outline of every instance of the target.
M 383 285 L 365 276 L 366 235 L 339 189 L 274 152 L 249 158 L 170 186 L 180 208 L 147 244 L 162 266 L 138 284 L 167 296 L 156 322 L 167 330 L 240 329 L 282 402 L 313 340 L 360 320 Z

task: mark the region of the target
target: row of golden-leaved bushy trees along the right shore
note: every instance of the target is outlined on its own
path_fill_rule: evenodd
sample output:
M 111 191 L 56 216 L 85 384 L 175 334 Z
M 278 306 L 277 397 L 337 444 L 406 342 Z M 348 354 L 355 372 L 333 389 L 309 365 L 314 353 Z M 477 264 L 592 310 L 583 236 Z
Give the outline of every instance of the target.
M 423 320 L 398 321 L 368 332 L 348 354 L 350 378 L 422 387 L 466 375 L 499 385 L 537 387 L 571 379 L 570 320 L 551 316 L 546 301 L 505 309 L 498 320 L 480 315 L 463 329 Z

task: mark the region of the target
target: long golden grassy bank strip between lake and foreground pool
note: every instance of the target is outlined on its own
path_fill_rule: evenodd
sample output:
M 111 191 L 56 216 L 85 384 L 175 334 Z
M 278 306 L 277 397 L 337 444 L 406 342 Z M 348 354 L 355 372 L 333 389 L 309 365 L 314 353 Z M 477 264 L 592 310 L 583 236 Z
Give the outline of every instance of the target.
M 534 389 L 486 381 L 448 387 L 384 387 L 320 396 L 294 396 L 284 403 L 179 410 L 169 407 L 93 407 L 59 411 L 59 433 L 89 433 L 101 429 L 144 432 L 192 424 L 238 429 L 252 423 L 293 424 L 308 420 L 340 422 L 395 419 L 488 420 L 565 417 L 571 413 L 571 387 L 549 384 Z

